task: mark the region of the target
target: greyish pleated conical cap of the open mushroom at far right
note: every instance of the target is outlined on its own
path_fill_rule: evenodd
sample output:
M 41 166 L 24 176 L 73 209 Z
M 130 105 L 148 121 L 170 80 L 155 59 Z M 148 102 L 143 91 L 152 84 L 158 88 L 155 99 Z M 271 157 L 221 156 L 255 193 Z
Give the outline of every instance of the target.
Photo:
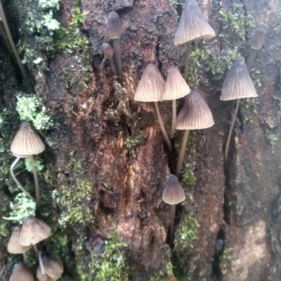
M 254 98 L 256 96 L 258 95 L 253 81 L 251 81 L 244 58 L 237 58 L 223 81 L 221 100 Z

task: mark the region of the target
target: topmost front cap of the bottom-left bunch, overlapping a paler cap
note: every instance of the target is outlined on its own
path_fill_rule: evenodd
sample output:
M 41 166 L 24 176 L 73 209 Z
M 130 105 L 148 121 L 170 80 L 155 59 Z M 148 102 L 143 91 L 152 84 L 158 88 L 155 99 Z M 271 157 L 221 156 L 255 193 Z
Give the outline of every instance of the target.
M 20 244 L 22 246 L 35 245 L 50 236 L 50 226 L 34 216 L 27 216 L 20 231 Z

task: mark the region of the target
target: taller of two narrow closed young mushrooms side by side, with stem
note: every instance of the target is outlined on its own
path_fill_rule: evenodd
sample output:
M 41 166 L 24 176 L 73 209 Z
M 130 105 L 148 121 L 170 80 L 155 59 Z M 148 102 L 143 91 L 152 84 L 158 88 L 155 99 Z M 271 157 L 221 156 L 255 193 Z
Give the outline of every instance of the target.
M 117 67 L 119 73 L 119 79 L 122 83 L 122 60 L 120 54 L 119 37 L 122 32 L 121 21 L 119 15 L 112 11 L 108 14 L 107 18 L 107 34 L 110 39 L 113 39 L 113 45 L 115 47 L 115 55 L 117 60 Z

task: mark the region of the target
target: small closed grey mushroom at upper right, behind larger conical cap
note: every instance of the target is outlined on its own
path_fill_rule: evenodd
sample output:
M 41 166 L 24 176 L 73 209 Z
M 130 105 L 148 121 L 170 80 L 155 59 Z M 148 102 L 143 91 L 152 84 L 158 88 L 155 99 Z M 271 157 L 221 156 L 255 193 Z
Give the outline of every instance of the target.
M 251 35 L 251 38 L 249 39 L 251 51 L 246 63 L 248 70 L 251 69 L 251 65 L 253 65 L 254 63 L 254 59 L 256 58 L 256 53 L 264 44 L 266 31 L 267 31 L 266 25 L 261 25 L 260 27 L 256 28 L 254 33 Z

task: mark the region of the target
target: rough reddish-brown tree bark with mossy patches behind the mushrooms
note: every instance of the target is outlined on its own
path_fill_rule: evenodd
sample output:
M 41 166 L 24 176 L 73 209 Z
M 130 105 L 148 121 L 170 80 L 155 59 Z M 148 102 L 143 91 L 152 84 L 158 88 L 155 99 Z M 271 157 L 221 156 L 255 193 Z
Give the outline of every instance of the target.
M 281 3 L 198 2 L 218 37 L 193 44 L 190 86 L 197 86 L 206 98 L 215 125 L 190 133 L 185 157 L 190 166 L 181 174 L 188 196 L 177 208 L 171 255 L 166 244 L 169 206 L 162 202 L 162 191 L 175 171 L 182 134 L 177 132 L 169 153 L 154 105 L 133 101 L 133 94 L 148 63 L 156 63 L 164 78 L 171 66 L 183 70 L 185 48 L 174 47 L 175 11 L 181 14 L 181 5 L 169 0 L 62 0 L 53 17 L 67 29 L 58 32 L 32 30 L 49 12 L 37 1 L 3 1 L 15 41 L 18 46 L 25 41 L 33 52 L 28 56 L 25 49 L 21 55 L 29 58 L 26 68 L 36 95 L 54 123 L 40 131 L 47 145 L 40 155 L 45 165 L 39 174 L 41 216 L 53 229 L 53 237 L 41 246 L 63 260 L 62 280 L 94 280 L 97 265 L 109 260 L 103 254 L 109 242 L 119 239 L 116 236 L 126 243 L 115 251 L 125 258 L 123 277 L 98 280 L 281 280 Z M 105 32 L 110 11 L 117 11 L 122 21 L 123 86 L 101 52 L 103 42 L 110 42 Z M 220 12 L 237 18 L 231 23 Z M 259 73 L 252 73 L 261 86 L 256 86 L 259 98 L 242 102 L 225 166 L 223 149 L 234 104 L 219 100 L 220 88 L 235 56 L 229 51 L 249 54 L 253 27 L 240 18 L 249 14 L 254 25 L 268 25 L 266 44 L 254 63 Z M 40 63 L 34 63 L 37 58 Z M 9 145 L 20 124 L 15 112 L 19 91 L 27 91 L 25 83 L 0 40 L 1 217 L 9 216 L 18 192 L 8 166 L 13 161 Z M 180 100 L 178 110 L 182 105 Z M 169 128 L 171 103 L 159 106 Z M 18 172 L 32 190 L 32 174 L 23 167 Z M 196 179 L 186 179 L 190 174 Z M 198 231 L 185 219 L 188 214 L 199 223 Z M 15 223 L 3 218 L 0 223 L 0 280 L 6 281 L 21 258 L 6 251 Z M 195 240 L 181 240 L 190 231 Z M 218 254 L 217 239 L 224 242 Z M 34 266 L 34 255 L 29 258 Z

